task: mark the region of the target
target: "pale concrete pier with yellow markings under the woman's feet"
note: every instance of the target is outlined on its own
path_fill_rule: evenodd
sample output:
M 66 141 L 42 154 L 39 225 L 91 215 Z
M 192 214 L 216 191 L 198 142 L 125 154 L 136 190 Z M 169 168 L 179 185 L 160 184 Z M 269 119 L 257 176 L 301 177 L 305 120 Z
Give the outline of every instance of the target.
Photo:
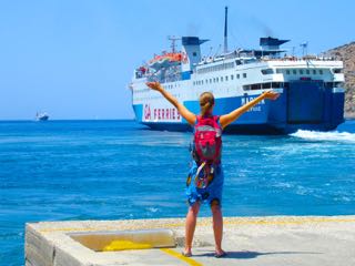
M 192 257 L 183 245 L 181 218 L 32 223 L 26 265 L 355 265 L 355 215 L 227 217 L 224 258 L 214 257 L 211 218 L 200 218 Z

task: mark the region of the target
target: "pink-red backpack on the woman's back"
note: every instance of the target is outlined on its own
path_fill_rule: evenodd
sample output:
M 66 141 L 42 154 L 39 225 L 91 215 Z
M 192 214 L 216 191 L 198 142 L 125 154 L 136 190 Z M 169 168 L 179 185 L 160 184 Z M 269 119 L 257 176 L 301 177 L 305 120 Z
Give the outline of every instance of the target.
M 220 116 L 197 115 L 194 126 L 194 158 L 199 163 L 217 164 L 221 162 L 222 129 Z

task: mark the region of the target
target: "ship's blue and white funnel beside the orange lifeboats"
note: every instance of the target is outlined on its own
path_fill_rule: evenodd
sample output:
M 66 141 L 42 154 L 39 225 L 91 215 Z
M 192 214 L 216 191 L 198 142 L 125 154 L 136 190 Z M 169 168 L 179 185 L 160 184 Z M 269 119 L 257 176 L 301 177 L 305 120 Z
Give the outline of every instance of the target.
M 209 40 L 200 40 L 199 37 L 183 37 L 181 74 L 183 80 L 189 80 L 194 64 L 201 61 L 200 45 Z

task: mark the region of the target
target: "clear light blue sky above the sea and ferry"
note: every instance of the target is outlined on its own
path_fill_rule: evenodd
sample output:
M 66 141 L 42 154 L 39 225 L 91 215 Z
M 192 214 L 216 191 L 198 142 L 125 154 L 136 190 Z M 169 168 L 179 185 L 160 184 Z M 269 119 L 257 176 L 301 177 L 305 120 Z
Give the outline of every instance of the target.
M 351 0 L 0 0 L 0 120 L 132 119 L 133 69 L 169 49 L 168 35 L 257 48 L 258 38 L 308 41 L 320 53 L 355 40 Z

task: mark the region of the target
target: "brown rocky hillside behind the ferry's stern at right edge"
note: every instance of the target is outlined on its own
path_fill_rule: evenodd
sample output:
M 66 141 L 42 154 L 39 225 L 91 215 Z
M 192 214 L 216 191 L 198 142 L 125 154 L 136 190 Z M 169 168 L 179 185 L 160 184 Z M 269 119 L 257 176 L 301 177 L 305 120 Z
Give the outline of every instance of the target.
M 345 116 L 355 117 L 355 42 L 334 48 L 326 52 L 344 62 Z

